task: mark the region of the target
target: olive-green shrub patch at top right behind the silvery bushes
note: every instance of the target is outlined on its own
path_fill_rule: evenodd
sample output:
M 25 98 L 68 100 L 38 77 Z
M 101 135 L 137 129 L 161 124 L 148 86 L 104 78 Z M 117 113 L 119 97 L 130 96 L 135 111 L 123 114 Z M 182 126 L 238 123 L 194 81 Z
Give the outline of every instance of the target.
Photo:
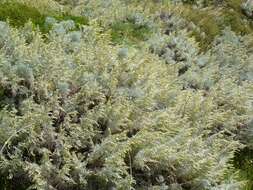
M 230 1 L 229 1 L 230 2 Z M 230 7 L 232 5 L 233 7 Z M 193 9 L 191 6 L 181 7 L 180 16 L 188 22 L 193 22 L 200 28 L 200 32 L 191 30 L 190 33 L 199 42 L 202 50 L 207 50 L 217 35 L 222 33 L 226 27 L 240 35 L 250 34 L 253 31 L 251 23 L 245 21 L 245 16 L 236 9 L 236 5 L 230 3 L 219 10 L 216 9 Z M 201 36 L 205 33 L 205 37 Z

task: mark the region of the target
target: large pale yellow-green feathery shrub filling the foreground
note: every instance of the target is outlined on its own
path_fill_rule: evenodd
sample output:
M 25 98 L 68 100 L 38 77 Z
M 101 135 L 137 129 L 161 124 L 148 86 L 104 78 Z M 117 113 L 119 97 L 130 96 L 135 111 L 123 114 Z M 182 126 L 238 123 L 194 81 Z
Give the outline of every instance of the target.
M 35 33 L 26 45 L 21 30 L 10 30 L 0 56 L 2 88 L 11 92 L 0 112 L 2 183 L 239 188 L 224 173 L 240 147 L 233 132 L 248 116 L 246 92 L 227 100 L 235 90 L 230 80 L 209 96 L 182 90 L 173 64 L 145 51 L 119 57 L 122 49 L 89 30 L 79 31 L 79 41 L 67 40 L 71 31 L 52 31 L 47 43 Z

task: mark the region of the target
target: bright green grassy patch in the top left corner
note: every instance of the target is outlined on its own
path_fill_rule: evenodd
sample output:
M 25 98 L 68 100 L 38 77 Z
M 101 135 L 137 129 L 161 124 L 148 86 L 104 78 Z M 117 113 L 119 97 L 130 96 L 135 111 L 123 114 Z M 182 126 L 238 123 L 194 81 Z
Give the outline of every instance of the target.
M 80 25 L 87 25 L 88 19 L 80 16 L 73 16 L 65 13 L 54 13 L 51 15 L 44 15 L 36 8 L 29 7 L 18 2 L 0 3 L 0 20 L 7 21 L 11 26 L 22 27 L 28 21 L 31 21 L 35 26 L 38 26 L 42 33 L 47 33 L 49 28 L 45 26 L 46 17 L 55 17 L 57 20 L 73 20 L 76 27 Z

